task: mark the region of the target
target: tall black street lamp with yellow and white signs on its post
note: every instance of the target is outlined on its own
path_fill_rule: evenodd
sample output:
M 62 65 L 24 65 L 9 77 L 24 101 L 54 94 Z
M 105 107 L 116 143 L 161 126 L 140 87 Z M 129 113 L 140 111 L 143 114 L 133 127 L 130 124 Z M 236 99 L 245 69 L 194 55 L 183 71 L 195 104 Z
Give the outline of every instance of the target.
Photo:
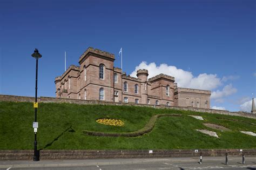
M 38 70 L 38 59 L 41 58 L 42 55 L 38 52 L 38 49 L 35 49 L 34 53 L 32 53 L 31 56 L 36 58 L 36 97 L 35 97 L 35 103 L 33 105 L 35 107 L 35 122 L 33 122 L 33 128 L 34 128 L 34 132 L 35 132 L 33 160 L 39 161 L 39 152 L 37 151 L 37 141 L 36 141 L 36 133 L 37 133 L 37 128 L 38 128 L 38 123 L 36 120 L 37 107 L 38 107 L 38 104 L 37 104 L 37 70 Z

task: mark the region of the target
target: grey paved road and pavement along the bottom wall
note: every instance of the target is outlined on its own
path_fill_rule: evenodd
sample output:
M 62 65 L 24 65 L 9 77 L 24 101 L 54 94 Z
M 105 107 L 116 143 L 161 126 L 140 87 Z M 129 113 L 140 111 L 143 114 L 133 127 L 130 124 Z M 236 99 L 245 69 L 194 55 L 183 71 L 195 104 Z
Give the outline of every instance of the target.
M 256 157 L 246 157 L 241 164 L 241 157 L 204 157 L 203 164 L 199 158 L 131 158 L 131 159 L 86 159 L 86 160 L 41 160 L 41 161 L 0 161 L 0 169 L 254 169 Z

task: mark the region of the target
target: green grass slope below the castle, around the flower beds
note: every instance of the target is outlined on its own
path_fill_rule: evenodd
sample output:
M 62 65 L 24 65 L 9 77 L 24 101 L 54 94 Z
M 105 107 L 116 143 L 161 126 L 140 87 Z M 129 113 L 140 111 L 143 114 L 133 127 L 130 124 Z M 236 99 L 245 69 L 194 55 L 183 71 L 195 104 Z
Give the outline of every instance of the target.
M 33 149 L 34 108 L 32 103 L 0 102 L 0 149 Z M 142 129 L 156 114 L 182 114 L 160 117 L 150 133 L 139 137 L 96 137 L 83 130 L 98 132 L 134 132 Z M 38 108 L 38 149 L 187 149 L 187 148 L 256 148 L 256 120 L 221 114 L 155 109 L 134 106 L 104 106 L 40 103 Z M 187 115 L 201 115 L 197 120 Z M 99 118 L 121 119 L 123 127 L 96 123 Z M 205 127 L 212 123 L 230 128 L 221 132 Z M 254 125 L 253 125 L 254 124 Z M 195 131 L 217 132 L 219 139 Z

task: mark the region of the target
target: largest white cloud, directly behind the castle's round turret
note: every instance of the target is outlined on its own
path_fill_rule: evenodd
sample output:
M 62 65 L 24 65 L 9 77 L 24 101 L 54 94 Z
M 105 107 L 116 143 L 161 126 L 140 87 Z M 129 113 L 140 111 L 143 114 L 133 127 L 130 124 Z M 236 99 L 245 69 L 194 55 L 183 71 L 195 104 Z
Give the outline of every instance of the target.
M 136 66 L 131 76 L 136 77 L 137 70 L 139 69 L 147 69 L 149 71 L 149 78 L 157 76 L 160 73 L 173 76 L 176 83 L 178 83 L 178 87 L 213 90 L 221 85 L 221 79 L 217 77 L 217 74 L 203 73 L 194 77 L 189 71 L 177 69 L 176 66 L 169 66 L 167 64 L 157 66 L 156 63 L 147 64 L 146 62 L 142 62 Z

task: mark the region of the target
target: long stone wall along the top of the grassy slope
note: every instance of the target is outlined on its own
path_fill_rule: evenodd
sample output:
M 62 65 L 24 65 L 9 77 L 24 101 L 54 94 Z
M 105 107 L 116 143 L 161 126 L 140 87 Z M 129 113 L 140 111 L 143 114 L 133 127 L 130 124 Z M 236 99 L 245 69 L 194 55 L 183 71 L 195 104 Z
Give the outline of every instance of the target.
M 24 96 L 10 96 L 10 95 L 0 95 L 0 101 L 16 101 L 16 102 L 35 102 L 34 97 L 24 97 Z M 256 114 L 242 113 L 242 112 L 230 112 L 224 110 L 214 110 L 207 108 L 196 108 L 196 107 L 178 107 L 178 106 L 166 106 L 166 105 L 146 105 L 146 104 L 134 104 L 134 103 L 116 103 L 109 101 L 99 101 L 99 100 L 78 100 L 78 99 L 64 99 L 64 98 L 53 98 L 53 97 L 39 97 L 38 102 L 42 103 L 73 103 L 73 104 L 100 104 L 100 105 L 124 105 L 124 106 L 143 106 L 143 107 L 154 107 L 154 108 L 171 108 L 176 110 L 186 110 L 194 112 L 206 112 L 213 114 L 225 114 L 225 115 L 236 115 L 240 117 L 253 118 L 256 119 Z

